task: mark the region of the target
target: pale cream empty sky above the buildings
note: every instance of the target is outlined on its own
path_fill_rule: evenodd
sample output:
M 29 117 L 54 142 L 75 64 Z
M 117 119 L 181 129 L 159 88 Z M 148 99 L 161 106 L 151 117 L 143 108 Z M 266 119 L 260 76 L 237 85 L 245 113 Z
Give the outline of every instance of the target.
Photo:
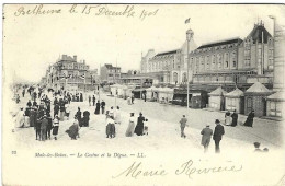
M 77 13 L 70 13 L 72 4 L 44 4 L 42 11 L 60 9 L 60 13 L 27 14 L 36 5 L 4 5 L 5 79 L 39 81 L 47 67 L 64 54 L 77 55 L 91 69 L 104 63 L 115 66 L 117 61 L 123 72 L 139 70 L 141 54 L 148 49 L 161 53 L 180 48 L 189 27 L 200 46 L 231 37 L 243 39 L 260 20 L 272 34 L 273 21 L 269 15 L 276 16 L 278 22 L 285 18 L 284 5 L 277 4 L 129 4 L 129 14 L 116 16 L 106 13 L 123 12 L 127 4 L 81 4 L 75 7 Z M 148 15 L 141 19 L 141 12 Z M 187 18 L 190 24 L 184 23 Z

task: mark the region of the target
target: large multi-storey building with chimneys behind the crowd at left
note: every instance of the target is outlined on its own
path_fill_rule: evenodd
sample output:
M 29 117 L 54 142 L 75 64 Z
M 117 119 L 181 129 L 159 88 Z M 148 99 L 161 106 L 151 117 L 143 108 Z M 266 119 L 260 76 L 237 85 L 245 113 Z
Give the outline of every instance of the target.
M 48 88 L 59 90 L 86 90 L 95 89 L 98 82 L 98 70 L 90 70 L 86 60 L 78 61 L 77 56 L 62 55 L 57 62 L 46 70 L 45 84 Z

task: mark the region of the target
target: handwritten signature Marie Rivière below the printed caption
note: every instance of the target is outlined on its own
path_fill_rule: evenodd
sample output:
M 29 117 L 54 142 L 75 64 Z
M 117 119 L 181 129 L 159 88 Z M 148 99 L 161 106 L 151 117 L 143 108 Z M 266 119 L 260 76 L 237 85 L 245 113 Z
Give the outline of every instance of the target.
M 213 174 L 213 173 L 221 173 L 221 172 L 240 172 L 242 171 L 242 165 L 224 165 L 224 166 L 214 166 L 214 167 L 197 167 L 194 166 L 194 162 L 189 160 L 187 162 L 183 163 L 179 168 L 174 171 L 174 175 L 185 175 L 189 178 L 193 178 L 193 175 L 200 174 Z M 162 168 L 160 165 L 158 168 L 149 170 L 142 165 L 142 162 L 134 162 L 129 167 L 125 168 L 124 171 L 119 172 L 112 178 L 118 177 L 130 177 L 130 178 L 138 178 L 138 177 L 153 177 L 153 176 L 166 176 L 170 171 Z

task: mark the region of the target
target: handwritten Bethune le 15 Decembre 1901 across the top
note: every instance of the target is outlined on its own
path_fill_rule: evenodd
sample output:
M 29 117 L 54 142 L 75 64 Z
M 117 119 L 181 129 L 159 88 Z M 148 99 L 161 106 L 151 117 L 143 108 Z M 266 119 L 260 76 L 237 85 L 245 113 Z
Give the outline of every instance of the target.
M 113 5 L 112 8 L 116 8 Z M 147 18 L 156 16 L 159 12 L 159 9 L 151 10 L 136 10 L 135 5 L 124 5 L 123 8 L 111 9 L 109 5 L 104 4 L 87 4 L 87 5 L 66 5 L 60 9 L 48 9 L 44 4 L 37 4 L 32 9 L 27 9 L 24 5 L 20 7 L 15 12 L 15 16 L 25 16 L 25 15 L 50 15 L 50 14 L 86 14 L 86 15 L 95 15 L 95 16 L 124 16 L 124 18 L 138 18 L 144 21 Z

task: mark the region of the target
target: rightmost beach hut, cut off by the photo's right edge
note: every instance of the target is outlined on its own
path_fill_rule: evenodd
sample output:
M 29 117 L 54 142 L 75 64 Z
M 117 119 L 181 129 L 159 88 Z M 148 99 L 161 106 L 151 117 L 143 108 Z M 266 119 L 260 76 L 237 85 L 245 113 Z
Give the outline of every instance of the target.
M 285 92 L 276 92 L 266 98 L 266 116 L 282 117 L 285 116 Z

